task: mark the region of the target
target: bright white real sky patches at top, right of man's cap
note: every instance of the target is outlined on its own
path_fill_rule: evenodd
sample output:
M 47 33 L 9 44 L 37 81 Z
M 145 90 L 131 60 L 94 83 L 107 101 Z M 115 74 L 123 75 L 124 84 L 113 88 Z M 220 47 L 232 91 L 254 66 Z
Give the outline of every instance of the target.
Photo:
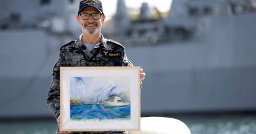
M 141 4 L 146 2 L 149 7 L 156 6 L 160 12 L 167 12 L 171 7 L 171 2 L 173 0 L 125 0 L 125 5 L 127 8 L 140 8 Z M 102 0 L 102 6 L 104 14 L 106 17 L 111 17 L 116 13 L 117 0 Z

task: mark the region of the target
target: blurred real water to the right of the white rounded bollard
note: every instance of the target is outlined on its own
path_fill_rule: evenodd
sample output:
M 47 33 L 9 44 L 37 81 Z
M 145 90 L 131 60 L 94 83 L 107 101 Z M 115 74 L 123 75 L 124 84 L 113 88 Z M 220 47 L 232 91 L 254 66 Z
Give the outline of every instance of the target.
M 256 115 L 213 115 L 184 118 L 192 134 L 256 134 Z

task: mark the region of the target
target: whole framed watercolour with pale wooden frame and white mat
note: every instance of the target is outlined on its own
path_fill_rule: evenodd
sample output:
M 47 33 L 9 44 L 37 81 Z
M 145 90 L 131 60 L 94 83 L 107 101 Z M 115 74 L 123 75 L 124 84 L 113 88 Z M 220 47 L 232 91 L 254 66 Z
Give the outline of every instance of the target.
M 60 131 L 140 129 L 140 67 L 60 67 Z

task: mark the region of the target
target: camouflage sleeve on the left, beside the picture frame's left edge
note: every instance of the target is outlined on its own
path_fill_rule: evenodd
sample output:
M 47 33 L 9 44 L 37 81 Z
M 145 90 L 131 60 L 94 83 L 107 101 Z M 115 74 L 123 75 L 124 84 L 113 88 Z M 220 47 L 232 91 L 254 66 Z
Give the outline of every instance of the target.
M 48 92 L 47 105 L 55 118 L 60 115 L 60 67 L 65 66 L 64 52 L 60 51 L 53 67 L 52 82 Z

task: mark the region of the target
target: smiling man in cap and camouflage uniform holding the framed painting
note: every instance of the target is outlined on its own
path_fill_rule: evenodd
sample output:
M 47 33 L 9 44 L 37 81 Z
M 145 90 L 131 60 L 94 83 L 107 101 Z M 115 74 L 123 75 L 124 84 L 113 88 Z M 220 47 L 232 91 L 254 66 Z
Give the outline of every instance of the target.
M 116 41 L 104 39 L 100 30 L 106 16 L 100 0 L 81 1 L 76 16 L 81 25 L 82 35 L 60 48 L 58 61 L 53 67 L 47 104 L 60 126 L 60 67 L 89 66 L 133 66 L 127 59 L 125 48 Z M 140 69 L 140 80 L 144 80 L 143 69 Z M 57 133 L 72 133 L 60 132 Z M 75 133 L 75 132 L 74 132 Z M 76 132 L 77 133 L 77 132 Z M 84 133 L 123 133 L 123 132 L 84 132 Z

